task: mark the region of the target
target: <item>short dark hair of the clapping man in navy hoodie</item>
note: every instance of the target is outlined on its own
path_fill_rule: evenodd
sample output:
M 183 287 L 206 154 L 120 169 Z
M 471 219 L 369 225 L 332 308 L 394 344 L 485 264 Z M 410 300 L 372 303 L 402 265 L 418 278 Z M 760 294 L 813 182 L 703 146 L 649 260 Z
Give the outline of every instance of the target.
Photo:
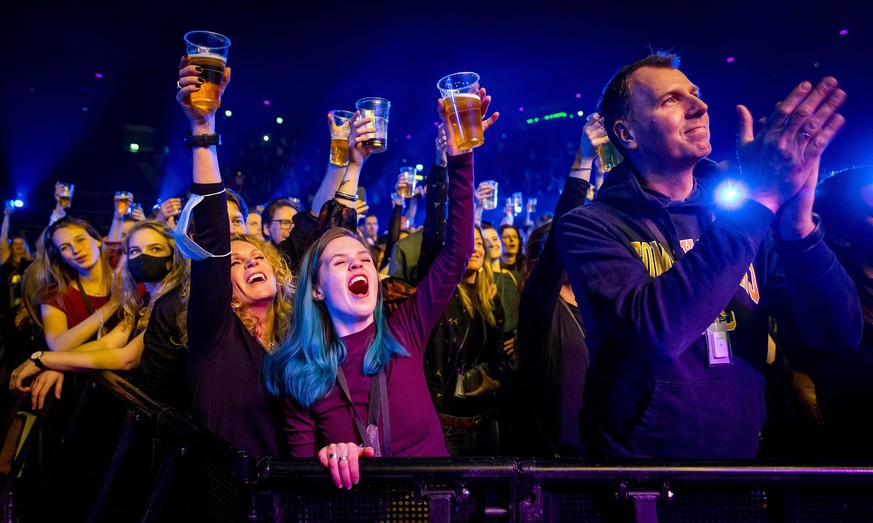
M 680 61 L 678 54 L 655 51 L 642 60 L 637 60 L 619 69 L 603 88 L 600 99 L 597 101 L 597 112 L 603 118 L 603 126 L 606 128 L 609 141 L 622 155 L 627 155 L 627 151 L 612 128 L 615 126 L 615 122 L 627 118 L 630 114 L 631 75 L 641 67 L 678 69 Z

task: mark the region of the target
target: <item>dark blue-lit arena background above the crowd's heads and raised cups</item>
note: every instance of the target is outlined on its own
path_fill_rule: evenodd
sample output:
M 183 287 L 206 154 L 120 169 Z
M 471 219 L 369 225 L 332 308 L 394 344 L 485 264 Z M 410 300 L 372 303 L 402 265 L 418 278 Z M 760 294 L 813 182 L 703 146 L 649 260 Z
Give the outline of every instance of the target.
M 219 122 L 220 159 L 232 185 L 244 180 L 250 205 L 278 194 L 308 201 L 327 161 L 327 111 L 382 96 L 392 101 L 390 146 L 367 161 L 361 183 L 384 227 L 399 167 L 433 161 L 436 81 L 473 70 L 501 112 L 476 151 L 477 177 L 498 180 L 501 197 L 536 196 L 549 211 L 583 120 L 527 120 L 590 112 L 618 67 L 657 48 L 681 54 L 701 87 L 713 159 L 734 160 L 736 104 L 763 116 L 801 80 L 831 74 L 849 94 L 848 123 L 823 167 L 871 162 L 864 2 L 9 4 L 0 8 L 0 195 L 21 193 L 27 207 L 13 233 L 27 228 L 31 240 L 47 223 L 56 180 L 76 184 L 72 212 L 103 230 L 116 190 L 148 206 L 184 191 L 190 154 L 174 96 L 191 29 L 233 42 L 222 107 L 233 115 Z M 200 12 L 206 6 L 214 7 Z M 140 152 L 129 152 L 131 142 Z M 498 221 L 500 210 L 485 219 Z

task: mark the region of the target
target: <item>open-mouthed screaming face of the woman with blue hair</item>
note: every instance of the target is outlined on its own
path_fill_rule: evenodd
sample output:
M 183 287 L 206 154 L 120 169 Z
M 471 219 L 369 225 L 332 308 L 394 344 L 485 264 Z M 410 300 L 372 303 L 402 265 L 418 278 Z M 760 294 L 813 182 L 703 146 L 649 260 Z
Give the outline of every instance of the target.
M 370 249 L 342 236 L 324 248 L 312 297 L 325 303 L 337 333 L 346 336 L 372 323 L 379 285 Z

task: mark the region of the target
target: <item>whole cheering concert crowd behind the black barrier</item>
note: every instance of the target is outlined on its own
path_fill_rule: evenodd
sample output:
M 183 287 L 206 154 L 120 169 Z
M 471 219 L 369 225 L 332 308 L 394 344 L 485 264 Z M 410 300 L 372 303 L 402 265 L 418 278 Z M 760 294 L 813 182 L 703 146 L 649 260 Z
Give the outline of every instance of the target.
M 482 220 L 493 189 L 440 99 L 434 164 L 380 234 L 358 191 L 371 117 L 355 114 L 349 163 L 327 164 L 309 208 L 256 209 L 222 180 L 215 110 L 190 103 L 200 74 L 182 59 L 176 100 L 205 136 L 184 202 L 118 209 L 103 236 L 59 201 L 33 256 L 4 214 L 4 377 L 32 409 L 70 394 L 65 376 L 118 371 L 344 488 L 381 456 L 795 458 L 815 441 L 803 456 L 871 457 L 873 169 L 819 171 L 845 122 L 836 79 L 799 83 L 762 123 L 738 106 L 735 173 L 709 159 L 678 56 L 629 64 L 556 207 L 522 224 L 511 207 Z M 499 115 L 477 95 L 488 132 Z M 623 156 L 608 172 L 607 144 Z

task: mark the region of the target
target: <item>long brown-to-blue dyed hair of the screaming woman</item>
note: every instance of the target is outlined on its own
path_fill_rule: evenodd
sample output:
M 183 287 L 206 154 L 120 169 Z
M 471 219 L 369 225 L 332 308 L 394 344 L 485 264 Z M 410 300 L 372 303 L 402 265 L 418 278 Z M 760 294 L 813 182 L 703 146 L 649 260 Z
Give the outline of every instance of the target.
M 275 395 L 288 394 L 304 408 L 327 397 L 336 382 L 337 366 L 346 359 L 346 346 L 333 327 L 327 305 L 316 301 L 313 289 L 318 285 L 318 267 L 327 245 L 342 237 L 361 238 L 347 229 L 329 229 L 307 249 L 300 263 L 297 293 L 291 320 L 291 335 L 264 362 L 267 390 Z M 391 358 L 409 353 L 388 332 L 382 312 L 381 285 L 377 289 L 373 311 L 376 333 L 364 355 L 364 374 L 373 376 L 384 369 Z

